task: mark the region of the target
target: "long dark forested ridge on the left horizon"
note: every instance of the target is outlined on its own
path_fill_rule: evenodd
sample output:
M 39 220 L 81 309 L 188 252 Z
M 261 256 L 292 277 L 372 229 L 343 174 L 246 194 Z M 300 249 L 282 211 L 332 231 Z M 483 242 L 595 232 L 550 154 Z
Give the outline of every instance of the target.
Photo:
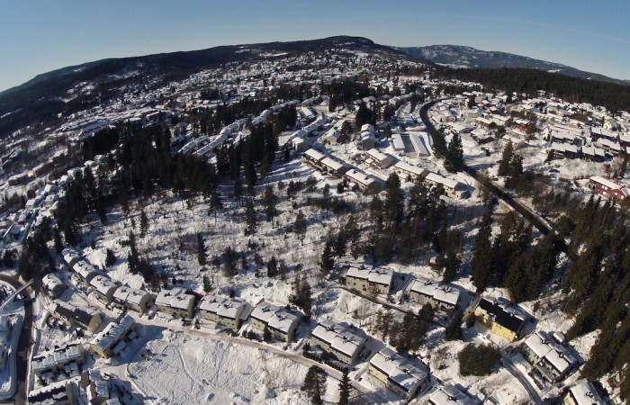
M 326 49 L 362 49 L 405 56 L 400 50 L 367 38 L 336 36 L 97 60 L 35 76 L 0 93 L 0 138 L 31 123 L 54 120 L 59 113 L 68 114 L 102 103 L 112 96 L 112 89 L 123 85 L 158 76 L 167 83 L 232 61 L 284 58 Z M 94 85 L 92 94 L 68 96 L 68 91 L 82 84 Z

